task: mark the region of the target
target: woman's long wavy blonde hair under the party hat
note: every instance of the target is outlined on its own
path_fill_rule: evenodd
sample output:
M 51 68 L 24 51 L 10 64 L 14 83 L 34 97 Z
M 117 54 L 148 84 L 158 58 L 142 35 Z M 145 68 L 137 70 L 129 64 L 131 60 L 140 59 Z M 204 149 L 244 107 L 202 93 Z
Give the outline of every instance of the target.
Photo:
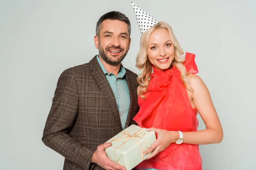
M 142 99 L 145 99 L 145 96 L 143 94 L 146 91 L 148 91 L 150 74 L 152 73 L 152 64 L 148 59 L 147 49 L 148 49 L 149 37 L 152 34 L 152 32 L 155 31 L 156 29 L 166 29 L 169 31 L 172 43 L 175 46 L 174 48 L 175 57 L 172 61 L 170 68 L 172 68 L 172 66 L 175 66 L 180 71 L 180 79 L 182 80 L 185 88 L 192 92 L 193 90 L 189 86 L 188 81 L 186 80 L 186 76 L 191 73 L 187 73 L 186 68 L 183 65 L 183 62 L 185 61 L 185 59 L 184 57 L 182 57 L 182 55 L 184 54 L 184 52 L 180 47 L 180 44 L 172 31 L 172 27 L 165 22 L 159 22 L 156 25 L 149 28 L 147 31 L 145 31 L 140 37 L 140 50 L 136 57 L 136 67 L 139 68 L 139 70 L 141 71 L 140 75 L 137 78 L 137 82 L 143 86 L 143 88 L 140 90 L 140 97 Z

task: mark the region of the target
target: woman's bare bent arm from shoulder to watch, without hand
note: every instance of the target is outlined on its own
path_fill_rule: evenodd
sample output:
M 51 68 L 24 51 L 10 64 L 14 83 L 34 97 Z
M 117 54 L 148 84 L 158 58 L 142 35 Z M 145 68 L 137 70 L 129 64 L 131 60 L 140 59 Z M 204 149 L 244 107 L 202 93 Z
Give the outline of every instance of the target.
M 187 80 L 193 89 L 193 93 L 189 93 L 189 97 L 192 98 L 192 105 L 194 104 L 195 108 L 197 108 L 206 129 L 196 132 L 183 132 L 183 143 L 220 143 L 223 139 L 223 130 L 217 112 L 212 104 L 208 88 L 203 80 L 194 74 L 187 76 Z

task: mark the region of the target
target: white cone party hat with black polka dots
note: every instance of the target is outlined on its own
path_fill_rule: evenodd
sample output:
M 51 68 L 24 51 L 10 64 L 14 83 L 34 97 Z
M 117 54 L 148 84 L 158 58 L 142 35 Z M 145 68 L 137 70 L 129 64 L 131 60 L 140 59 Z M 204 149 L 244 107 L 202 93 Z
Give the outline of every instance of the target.
M 137 23 L 140 27 L 140 33 L 143 34 L 145 31 L 148 30 L 148 28 L 154 26 L 155 24 L 159 23 L 157 19 L 154 17 L 150 16 L 148 13 L 143 11 L 142 8 L 134 4 L 133 2 L 131 3 L 133 8 L 134 8 L 134 14 L 137 18 Z

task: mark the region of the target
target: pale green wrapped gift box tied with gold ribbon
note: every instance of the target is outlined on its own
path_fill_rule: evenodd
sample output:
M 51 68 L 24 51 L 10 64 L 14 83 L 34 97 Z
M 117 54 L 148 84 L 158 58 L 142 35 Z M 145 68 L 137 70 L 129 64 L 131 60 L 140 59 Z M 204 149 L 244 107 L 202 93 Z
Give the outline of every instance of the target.
M 145 128 L 131 125 L 109 139 L 107 142 L 111 142 L 112 145 L 105 151 L 111 161 L 124 166 L 126 170 L 131 170 L 151 154 L 143 156 L 143 152 L 155 141 L 154 131 L 148 132 Z

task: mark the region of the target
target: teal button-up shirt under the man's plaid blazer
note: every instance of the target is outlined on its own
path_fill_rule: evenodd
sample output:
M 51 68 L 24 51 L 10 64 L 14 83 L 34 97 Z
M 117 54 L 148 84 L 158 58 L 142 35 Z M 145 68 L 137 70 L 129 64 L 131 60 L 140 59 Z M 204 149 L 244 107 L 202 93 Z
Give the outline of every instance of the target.
M 117 76 L 115 76 L 113 73 L 107 72 L 104 65 L 99 59 L 99 55 L 97 56 L 97 60 L 115 96 L 122 128 L 124 129 L 130 106 L 130 93 L 125 79 L 125 68 L 121 65 Z

